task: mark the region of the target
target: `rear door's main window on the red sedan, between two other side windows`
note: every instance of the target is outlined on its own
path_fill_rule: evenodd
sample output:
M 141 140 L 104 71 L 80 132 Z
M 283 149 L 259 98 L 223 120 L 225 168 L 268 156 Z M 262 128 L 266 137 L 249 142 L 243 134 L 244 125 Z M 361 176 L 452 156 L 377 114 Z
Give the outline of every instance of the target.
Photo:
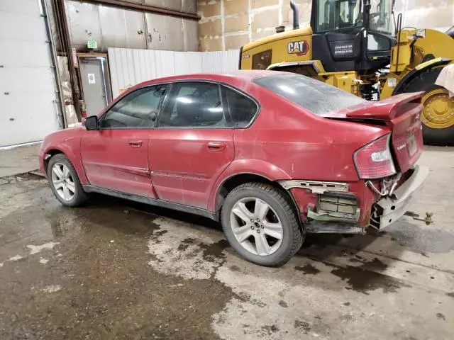
M 158 126 L 226 127 L 218 84 L 197 81 L 173 84 Z

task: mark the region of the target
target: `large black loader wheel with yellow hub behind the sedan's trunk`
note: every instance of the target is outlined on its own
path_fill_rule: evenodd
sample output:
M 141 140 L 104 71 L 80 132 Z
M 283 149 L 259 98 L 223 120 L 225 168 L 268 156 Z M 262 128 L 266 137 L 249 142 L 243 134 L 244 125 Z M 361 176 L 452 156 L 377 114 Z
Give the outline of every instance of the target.
M 449 98 L 448 90 L 435 85 L 441 68 L 428 69 L 409 81 L 401 92 L 424 91 L 424 106 L 421 114 L 423 139 L 428 145 L 454 144 L 454 97 Z

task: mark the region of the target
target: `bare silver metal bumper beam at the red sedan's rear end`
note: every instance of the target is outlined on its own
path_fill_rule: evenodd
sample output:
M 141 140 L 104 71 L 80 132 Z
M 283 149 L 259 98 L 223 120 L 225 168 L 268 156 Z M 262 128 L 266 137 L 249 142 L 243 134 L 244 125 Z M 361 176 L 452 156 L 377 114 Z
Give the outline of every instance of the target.
M 370 227 L 382 230 L 399 220 L 407 211 L 414 193 L 426 179 L 428 171 L 426 166 L 415 166 L 413 174 L 394 191 L 392 197 L 382 198 L 372 205 Z

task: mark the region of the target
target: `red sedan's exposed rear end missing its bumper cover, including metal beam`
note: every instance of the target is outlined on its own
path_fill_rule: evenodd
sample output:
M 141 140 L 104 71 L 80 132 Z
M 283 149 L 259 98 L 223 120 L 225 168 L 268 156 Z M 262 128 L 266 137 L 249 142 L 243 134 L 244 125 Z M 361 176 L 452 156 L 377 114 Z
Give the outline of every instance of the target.
M 292 194 L 306 232 L 364 234 L 368 227 L 382 230 L 399 220 L 427 175 L 427 167 L 414 166 L 391 196 L 381 197 L 364 181 L 279 183 Z

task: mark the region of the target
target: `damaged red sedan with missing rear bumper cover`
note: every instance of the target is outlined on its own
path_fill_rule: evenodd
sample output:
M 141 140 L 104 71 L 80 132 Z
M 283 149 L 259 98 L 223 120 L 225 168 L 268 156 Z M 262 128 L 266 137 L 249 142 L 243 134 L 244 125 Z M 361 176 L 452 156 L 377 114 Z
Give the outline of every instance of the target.
M 428 174 L 420 113 L 421 94 L 373 103 L 284 72 L 155 79 L 46 137 L 40 168 L 63 205 L 96 192 L 204 215 L 245 259 L 279 266 L 306 233 L 406 212 Z

